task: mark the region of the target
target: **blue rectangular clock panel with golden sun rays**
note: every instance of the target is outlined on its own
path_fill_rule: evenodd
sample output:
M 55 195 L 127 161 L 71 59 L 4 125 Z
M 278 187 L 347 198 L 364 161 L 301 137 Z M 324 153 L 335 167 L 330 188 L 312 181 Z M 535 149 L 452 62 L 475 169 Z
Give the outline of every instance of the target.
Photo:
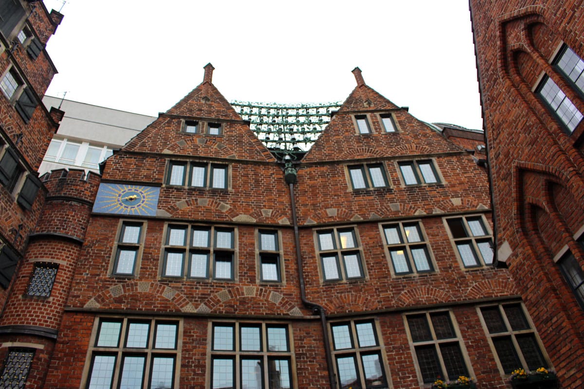
M 99 185 L 93 212 L 155 216 L 160 188 L 144 185 Z

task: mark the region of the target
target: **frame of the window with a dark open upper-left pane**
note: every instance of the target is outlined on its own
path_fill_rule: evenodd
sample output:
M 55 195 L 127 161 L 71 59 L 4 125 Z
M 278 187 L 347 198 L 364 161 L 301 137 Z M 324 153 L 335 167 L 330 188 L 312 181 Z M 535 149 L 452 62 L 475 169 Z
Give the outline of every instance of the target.
M 449 225 L 449 220 L 455 220 L 455 219 L 461 219 L 463 222 L 463 228 L 464 228 L 464 232 L 467 234 L 467 236 L 464 237 L 454 237 L 454 234 L 451 230 L 451 227 Z M 486 234 L 485 235 L 474 235 L 472 233 L 472 229 L 470 227 L 470 225 L 468 224 L 468 219 L 476 219 L 479 220 L 481 222 L 481 225 L 483 227 L 483 229 L 485 230 Z M 446 218 L 443 218 L 443 222 L 444 222 L 444 228 L 446 229 L 446 232 L 448 234 L 448 237 L 450 239 L 450 242 L 452 244 L 453 250 L 454 250 L 454 255 L 456 255 L 456 258 L 460 264 L 461 269 L 477 269 L 477 268 L 485 268 L 485 267 L 489 267 L 492 266 L 494 264 L 494 258 L 495 258 L 495 248 L 493 247 L 493 232 L 491 229 L 491 226 L 488 223 L 488 220 L 486 219 L 484 213 L 479 213 L 479 214 L 471 214 L 471 215 L 458 215 L 458 216 L 449 216 Z M 473 255 L 476 264 L 475 265 L 467 265 L 465 263 L 465 259 L 463 258 L 463 255 L 460 253 L 460 248 L 458 248 L 458 242 L 460 243 L 467 243 L 470 242 L 470 250 L 471 250 L 471 254 Z M 481 248 L 479 247 L 479 243 L 489 243 L 489 247 L 491 247 L 491 251 L 492 251 L 492 258 L 491 258 L 491 263 L 488 263 L 485 261 L 484 258 L 484 254 L 481 251 Z

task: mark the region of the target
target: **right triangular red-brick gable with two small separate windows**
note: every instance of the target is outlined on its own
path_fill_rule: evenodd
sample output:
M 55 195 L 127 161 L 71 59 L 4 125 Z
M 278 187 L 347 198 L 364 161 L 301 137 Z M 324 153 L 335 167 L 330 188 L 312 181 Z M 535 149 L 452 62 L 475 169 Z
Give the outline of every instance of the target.
M 303 162 L 426 155 L 460 151 L 374 89 L 367 86 L 359 68 L 353 69 L 357 86 L 304 157 Z M 380 115 L 391 114 L 397 132 L 386 132 Z M 364 115 L 370 134 L 360 134 L 356 115 Z

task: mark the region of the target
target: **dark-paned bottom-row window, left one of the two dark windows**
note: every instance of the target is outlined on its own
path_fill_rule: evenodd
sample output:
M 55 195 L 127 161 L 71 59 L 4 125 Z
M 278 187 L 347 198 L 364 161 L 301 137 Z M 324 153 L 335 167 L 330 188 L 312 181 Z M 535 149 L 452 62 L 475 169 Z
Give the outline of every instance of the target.
M 460 335 L 449 311 L 408 315 L 406 321 L 418 361 L 416 370 L 424 383 L 432 383 L 439 377 L 444 381 L 469 377 L 465 350 L 461 349 Z

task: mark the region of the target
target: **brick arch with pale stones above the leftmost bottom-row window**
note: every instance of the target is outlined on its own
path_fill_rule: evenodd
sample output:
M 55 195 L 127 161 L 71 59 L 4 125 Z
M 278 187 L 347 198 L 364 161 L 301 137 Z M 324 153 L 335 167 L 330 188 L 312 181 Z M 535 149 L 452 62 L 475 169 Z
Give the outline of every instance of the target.
M 140 294 L 141 296 L 150 295 L 152 296 L 152 302 L 162 300 L 182 312 L 194 312 L 194 307 L 189 302 L 189 299 L 185 295 L 182 295 L 182 293 L 177 292 L 169 286 L 161 285 L 158 282 L 147 281 L 130 281 L 114 285 L 89 300 L 84 308 L 98 309 L 113 304 L 114 300 L 119 297 L 134 294 Z M 148 299 L 141 299 L 141 302 L 147 304 Z

